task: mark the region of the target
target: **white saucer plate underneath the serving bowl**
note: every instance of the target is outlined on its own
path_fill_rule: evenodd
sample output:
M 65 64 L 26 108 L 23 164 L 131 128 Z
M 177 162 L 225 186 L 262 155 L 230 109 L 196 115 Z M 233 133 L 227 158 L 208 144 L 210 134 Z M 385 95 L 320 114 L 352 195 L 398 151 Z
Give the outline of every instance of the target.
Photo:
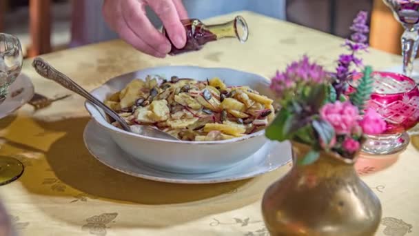
M 121 173 L 175 184 L 215 184 L 249 179 L 276 170 L 292 161 L 291 144 L 268 141 L 254 155 L 233 168 L 215 173 L 178 174 L 156 170 L 130 157 L 117 146 L 110 135 L 90 121 L 83 139 L 89 152 L 102 164 Z

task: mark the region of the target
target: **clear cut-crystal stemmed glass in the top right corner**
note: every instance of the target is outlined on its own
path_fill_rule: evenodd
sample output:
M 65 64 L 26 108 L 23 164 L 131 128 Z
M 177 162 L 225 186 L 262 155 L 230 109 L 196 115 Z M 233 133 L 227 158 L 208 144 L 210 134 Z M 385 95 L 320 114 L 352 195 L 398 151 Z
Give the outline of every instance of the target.
M 383 1 L 405 28 L 402 35 L 403 74 L 410 77 L 419 46 L 419 0 Z

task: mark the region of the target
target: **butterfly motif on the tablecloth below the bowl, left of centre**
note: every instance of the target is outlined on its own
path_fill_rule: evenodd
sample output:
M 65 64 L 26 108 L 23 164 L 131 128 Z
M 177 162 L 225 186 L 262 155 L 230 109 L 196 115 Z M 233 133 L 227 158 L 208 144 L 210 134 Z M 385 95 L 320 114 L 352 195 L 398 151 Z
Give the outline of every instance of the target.
M 91 235 L 105 236 L 108 232 L 106 228 L 110 228 L 107 224 L 113 222 L 118 216 L 118 213 L 103 213 L 101 215 L 94 215 L 86 219 L 88 224 L 81 226 L 81 230 L 89 231 Z

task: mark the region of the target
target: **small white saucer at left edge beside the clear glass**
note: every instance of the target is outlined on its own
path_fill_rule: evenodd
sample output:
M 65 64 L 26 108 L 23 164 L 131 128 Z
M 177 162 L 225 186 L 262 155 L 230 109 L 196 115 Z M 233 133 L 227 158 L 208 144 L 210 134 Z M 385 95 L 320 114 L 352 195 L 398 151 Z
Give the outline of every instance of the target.
M 34 86 L 30 78 L 24 74 L 19 75 L 9 87 L 9 94 L 0 104 L 0 119 L 12 114 L 21 108 L 34 96 Z

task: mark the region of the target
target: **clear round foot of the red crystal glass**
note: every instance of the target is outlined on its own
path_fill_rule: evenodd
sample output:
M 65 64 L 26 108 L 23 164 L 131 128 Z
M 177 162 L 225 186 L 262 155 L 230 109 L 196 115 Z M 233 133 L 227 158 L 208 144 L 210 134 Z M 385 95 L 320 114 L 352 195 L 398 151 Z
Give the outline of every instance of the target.
M 368 155 L 392 155 L 400 153 L 409 145 L 409 135 L 403 132 L 398 135 L 367 135 L 367 141 L 362 146 L 362 153 Z

